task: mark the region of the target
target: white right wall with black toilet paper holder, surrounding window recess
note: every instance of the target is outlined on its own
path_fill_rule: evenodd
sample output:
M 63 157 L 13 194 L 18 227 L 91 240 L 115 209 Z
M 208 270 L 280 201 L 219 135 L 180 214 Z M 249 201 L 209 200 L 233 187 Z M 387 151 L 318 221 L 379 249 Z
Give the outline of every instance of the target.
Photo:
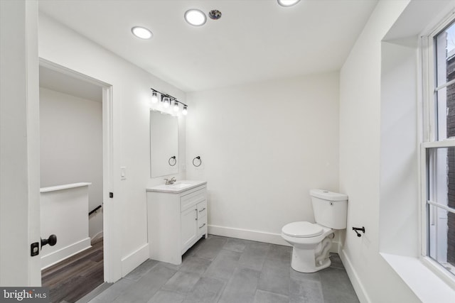
M 349 195 L 341 257 L 361 302 L 419 302 L 379 254 L 381 40 L 408 2 L 378 3 L 341 70 L 340 190 Z M 365 226 L 365 235 L 355 236 L 353 226 Z

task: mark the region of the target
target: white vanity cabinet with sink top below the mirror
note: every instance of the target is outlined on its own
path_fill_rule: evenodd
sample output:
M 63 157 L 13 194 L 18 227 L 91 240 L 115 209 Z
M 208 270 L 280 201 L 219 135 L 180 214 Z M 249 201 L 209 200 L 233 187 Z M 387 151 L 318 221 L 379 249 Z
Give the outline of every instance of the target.
M 180 181 L 147 189 L 149 258 L 181 264 L 183 253 L 207 238 L 206 184 Z

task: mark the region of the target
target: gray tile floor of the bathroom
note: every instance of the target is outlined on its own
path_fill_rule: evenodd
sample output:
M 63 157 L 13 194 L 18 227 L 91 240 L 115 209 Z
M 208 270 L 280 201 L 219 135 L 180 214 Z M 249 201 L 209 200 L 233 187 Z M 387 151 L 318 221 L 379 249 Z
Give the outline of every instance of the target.
M 181 265 L 147 260 L 90 302 L 359 302 L 338 255 L 311 274 L 290 260 L 287 246 L 209 235 Z

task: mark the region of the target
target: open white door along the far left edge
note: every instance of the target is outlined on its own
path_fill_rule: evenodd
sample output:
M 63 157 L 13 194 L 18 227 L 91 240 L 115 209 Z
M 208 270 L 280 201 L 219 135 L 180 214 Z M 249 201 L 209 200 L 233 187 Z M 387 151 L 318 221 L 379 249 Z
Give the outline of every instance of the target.
M 38 2 L 0 1 L 0 285 L 41 286 Z

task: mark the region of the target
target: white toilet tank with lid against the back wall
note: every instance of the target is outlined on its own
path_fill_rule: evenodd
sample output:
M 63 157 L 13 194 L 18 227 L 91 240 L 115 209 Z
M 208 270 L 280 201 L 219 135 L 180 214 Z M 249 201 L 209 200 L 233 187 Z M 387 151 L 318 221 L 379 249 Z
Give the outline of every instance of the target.
M 348 196 L 323 189 L 311 189 L 311 205 L 317 224 L 333 229 L 346 228 Z

